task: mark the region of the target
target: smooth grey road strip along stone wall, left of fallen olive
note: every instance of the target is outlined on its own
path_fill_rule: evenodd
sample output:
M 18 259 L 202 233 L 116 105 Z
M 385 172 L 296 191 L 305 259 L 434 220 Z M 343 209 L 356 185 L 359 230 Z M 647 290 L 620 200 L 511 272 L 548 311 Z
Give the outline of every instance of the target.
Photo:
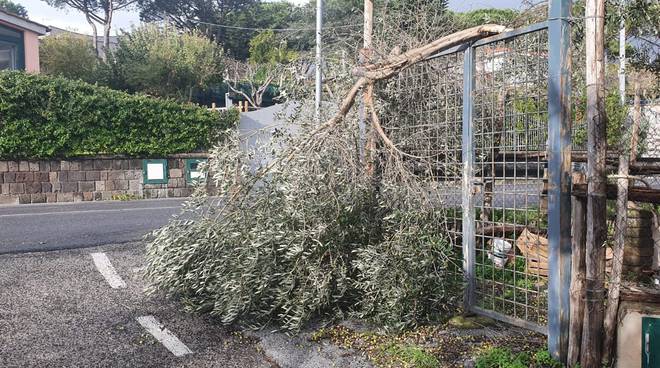
M 180 213 L 185 199 L 0 207 L 0 254 L 140 240 Z

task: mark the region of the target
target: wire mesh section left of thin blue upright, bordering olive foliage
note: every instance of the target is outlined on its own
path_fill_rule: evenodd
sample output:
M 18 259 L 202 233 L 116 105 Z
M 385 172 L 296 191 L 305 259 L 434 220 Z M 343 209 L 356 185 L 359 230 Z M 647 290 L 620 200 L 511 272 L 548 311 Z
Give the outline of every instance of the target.
M 462 52 L 412 66 L 378 88 L 382 124 L 397 146 L 411 156 L 408 164 L 435 193 L 445 217 L 445 232 L 455 252 L 451 273 L 462 278 Z

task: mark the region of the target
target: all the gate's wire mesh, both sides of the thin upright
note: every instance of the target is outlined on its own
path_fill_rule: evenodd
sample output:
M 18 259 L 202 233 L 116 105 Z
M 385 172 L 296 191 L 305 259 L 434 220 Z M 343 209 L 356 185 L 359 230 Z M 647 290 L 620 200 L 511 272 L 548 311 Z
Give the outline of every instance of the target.
M 377 90 L 382 123 L 437 193 L 462 277 L 463 152 L 474 156 L 476 307 L 543 326 L 548 243 L 547 31 L 474 48 L 473 147 L 463 147 L 465 51 L 416 64 Z M 470 66 L 467 66 L 470 67 Z M 537 328 L 541 329 L 541 328 Z

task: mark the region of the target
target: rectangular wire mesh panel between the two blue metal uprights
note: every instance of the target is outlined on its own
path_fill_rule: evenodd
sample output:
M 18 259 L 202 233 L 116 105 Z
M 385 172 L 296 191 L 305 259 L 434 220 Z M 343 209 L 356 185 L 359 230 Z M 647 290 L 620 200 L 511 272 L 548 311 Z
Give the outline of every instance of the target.
M 473 130 L 476 305 L 547 322 L 547 31 L 479 46 Z

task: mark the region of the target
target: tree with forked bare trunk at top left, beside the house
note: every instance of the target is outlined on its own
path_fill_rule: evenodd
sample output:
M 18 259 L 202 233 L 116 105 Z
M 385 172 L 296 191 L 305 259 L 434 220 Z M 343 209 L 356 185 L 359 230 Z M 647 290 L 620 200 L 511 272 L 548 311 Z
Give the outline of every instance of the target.
M 44 0 L 57 8 L 73 8 L 85 15 L 87 23 L 92 27 L 94 36 L 94 49 L 96 55 L 105 59 L 109 53 L 110 30 L 115 11 L 126 9 L 135 4 L 137 0 Z M 98 29 L 96 23 L 103 27 L 103 53 L 98 47 Z

